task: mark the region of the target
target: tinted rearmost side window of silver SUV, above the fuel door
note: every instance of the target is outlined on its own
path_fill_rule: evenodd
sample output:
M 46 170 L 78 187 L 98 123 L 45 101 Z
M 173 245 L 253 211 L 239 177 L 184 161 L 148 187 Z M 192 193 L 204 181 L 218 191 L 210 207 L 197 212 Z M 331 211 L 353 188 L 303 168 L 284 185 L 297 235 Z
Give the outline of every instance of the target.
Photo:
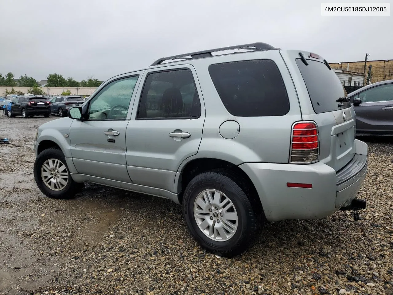
M 209 74 L 233 116 L 283 116 L 289 111 L 283 78 L 270 59 L 215 64 Z

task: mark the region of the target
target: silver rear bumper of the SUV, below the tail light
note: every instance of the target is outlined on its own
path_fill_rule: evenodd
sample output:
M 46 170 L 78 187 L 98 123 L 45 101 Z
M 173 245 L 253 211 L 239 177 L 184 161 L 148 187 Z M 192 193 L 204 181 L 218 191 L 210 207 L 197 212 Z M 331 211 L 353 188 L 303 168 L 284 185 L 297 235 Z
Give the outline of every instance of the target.
M 367 144 L 355 140 L 355 157 L 341 171 L 321 162 L 309 165 L 244 163 L 269 221 L 318 219 L 351 203 L 367 175 Z M 307 183 L 292 188 L 286 183 Z

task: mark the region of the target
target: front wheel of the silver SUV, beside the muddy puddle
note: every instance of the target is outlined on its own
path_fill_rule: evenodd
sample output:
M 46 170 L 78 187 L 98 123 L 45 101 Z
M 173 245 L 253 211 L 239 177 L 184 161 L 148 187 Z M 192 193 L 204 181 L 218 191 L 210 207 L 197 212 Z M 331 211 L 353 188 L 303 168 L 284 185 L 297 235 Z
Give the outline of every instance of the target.
M 60 167 L 60 169 L 55 168 L 55 171 L 48 169 L 48 167 L 54 168 L 53 164 L 56 163 L 56 160 L 60 162 L 58 166 Z M 44 164 L 46 164 L 46 166 L 44 166 Z M 37 184 L 40 191 L 47 197 L 53 199 L 72 199 L 73 197 L 75 197 L 75 194 L 80 192 L 84 186 L 83 183 L 76 183 L 75 181 L 73 181 L 66 160 L 64 159 L 64 154 L 60 149 L 49 148 L 42 151 L 35 159 L 33 169 L 35 183 Z M 52 171 L 53 174 L 49 174 Z M 66 173 L 66 175 L 64 173 Z M 47 175 L 47 177 L 45 177 L 45 174 Z M 50 175 L 54 175 L 54 177 L 52 178 L 52 176 Z M 59 179 L 59 177 L 61 177 L 63 180 L 67 179 L 66 184 L 64 184 L 64 181 L 53 181 L 53 179 L 56 179 L 56 175 L 57 179 Z M 44 183 L 44 179 L 47 182 L 49 180 L 48 185 L 52 188 L 50 188 Z

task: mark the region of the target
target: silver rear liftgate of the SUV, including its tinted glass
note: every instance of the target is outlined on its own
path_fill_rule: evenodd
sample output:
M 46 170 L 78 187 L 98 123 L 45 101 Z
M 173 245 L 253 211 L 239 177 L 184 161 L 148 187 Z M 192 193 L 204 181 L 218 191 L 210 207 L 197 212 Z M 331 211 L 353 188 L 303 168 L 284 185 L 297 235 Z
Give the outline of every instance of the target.
M 318 126 L 319 160 L 339 171 L 355 154 L 356 118 L 351 103 L 345 101 L 347 92 L 323 57 L 298 50 L 283 57 L 298 84 L 302 119 Z

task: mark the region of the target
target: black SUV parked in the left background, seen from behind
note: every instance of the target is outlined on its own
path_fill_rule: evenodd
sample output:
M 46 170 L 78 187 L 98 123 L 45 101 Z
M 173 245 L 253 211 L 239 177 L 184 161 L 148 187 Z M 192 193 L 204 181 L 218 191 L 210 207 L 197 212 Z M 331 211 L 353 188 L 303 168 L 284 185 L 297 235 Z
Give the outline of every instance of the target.
M 33 116 L 50 116 L 50 102 L 46 99 L 31 96 L 20 96 L 11 101 L 11 109 L 7 111 L 7 116 L 13 118 L 22 116 L 32 118 Z

